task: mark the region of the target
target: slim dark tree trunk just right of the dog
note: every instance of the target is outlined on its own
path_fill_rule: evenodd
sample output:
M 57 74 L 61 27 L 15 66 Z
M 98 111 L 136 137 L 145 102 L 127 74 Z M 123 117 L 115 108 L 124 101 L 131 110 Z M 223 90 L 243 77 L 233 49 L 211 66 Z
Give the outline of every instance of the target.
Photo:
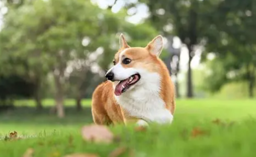
M 191 56 L 192 50 L 189 48 L 189 67 L 188 67 L 188 80 L 187 80 L 187 97 L 193 97 L 193 83 L 192 83 L 192 69 L 191 69 Z

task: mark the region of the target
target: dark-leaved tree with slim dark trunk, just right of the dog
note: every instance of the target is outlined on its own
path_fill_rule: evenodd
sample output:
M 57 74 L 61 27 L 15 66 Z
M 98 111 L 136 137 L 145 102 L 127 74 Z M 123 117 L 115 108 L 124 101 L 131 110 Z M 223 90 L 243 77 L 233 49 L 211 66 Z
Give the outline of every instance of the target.
M 191 61 L 203 37 L 201 30 L 206 29 L 201 14 L 209 7 L 208 0 L 141 0 L 150 11 L 151 24 L 165 35 L 179 36 L 189 50 L 187 97 L 193 97 Z

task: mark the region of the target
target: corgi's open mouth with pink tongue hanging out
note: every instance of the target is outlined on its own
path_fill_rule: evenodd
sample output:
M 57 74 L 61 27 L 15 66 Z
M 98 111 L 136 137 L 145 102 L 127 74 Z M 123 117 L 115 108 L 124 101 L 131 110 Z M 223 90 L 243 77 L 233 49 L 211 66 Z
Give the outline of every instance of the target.
M 115 95 L 119 96 L 123 92 L 125 92 L 129 87 L 133 84 L 137 83 L 140 79 L 140 75 L 138 73 L 131 75 L 129 78 L 120 80 L 115 88 Z

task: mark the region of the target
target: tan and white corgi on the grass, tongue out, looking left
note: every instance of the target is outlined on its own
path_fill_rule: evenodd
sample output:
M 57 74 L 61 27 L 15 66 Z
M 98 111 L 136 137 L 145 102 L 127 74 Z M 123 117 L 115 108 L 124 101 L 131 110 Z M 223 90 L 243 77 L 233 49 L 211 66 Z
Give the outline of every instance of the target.
M 93 92 L 92 114 L 96 124 L 172 123 L 175 85 L 159 58 L 163 39 L 156 36 L 145 47 L 130 47 L 123 34 L 107 81 Z

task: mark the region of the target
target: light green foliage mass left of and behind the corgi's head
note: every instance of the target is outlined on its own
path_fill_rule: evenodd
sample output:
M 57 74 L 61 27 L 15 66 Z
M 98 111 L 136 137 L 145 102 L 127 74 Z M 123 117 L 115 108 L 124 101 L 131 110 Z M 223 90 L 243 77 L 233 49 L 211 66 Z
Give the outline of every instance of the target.
M 56 74 L 58 80 L 68 80 L 62 83 L 68 97 L 90 96 L 102 81 L 91 66 L 98 64 L 103 71 L 109 68 L 119 47 L 118 32 L 125 33 L 136 46 L 145 46 L 157 35 L 148 24 L 126 22 L 124 11 L 114 14 L 90 1 L 35 0 L 22 1 L 19 7 L 7 6 L 0 32 L 0 73 L 31 80 L 38 84 L 38 90 L 47 90 L 46 96 L 57 91 L 56 86 L 46 87 L 56 85 L 52 80 Z M 83 45 L 84 38 L 88 44 Z M 90 55 L 99 48 L 103 53 L 92 59 Z M 70 75 L 64 76 L 70 61 L 83 63 L 72 65 Z

